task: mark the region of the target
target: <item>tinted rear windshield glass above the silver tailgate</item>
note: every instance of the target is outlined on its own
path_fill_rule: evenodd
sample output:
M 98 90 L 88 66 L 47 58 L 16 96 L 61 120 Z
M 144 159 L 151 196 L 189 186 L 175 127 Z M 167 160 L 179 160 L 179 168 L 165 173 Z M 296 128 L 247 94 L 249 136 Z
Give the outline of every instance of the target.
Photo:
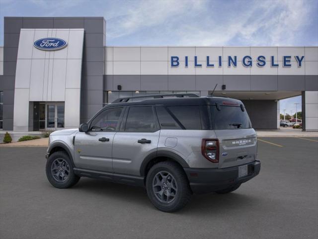
M 246 110 L 242 111 L 240 107 L 220 106 L 219 111 L 216 106 L 211 106 L 211 114 L 214 129 L 241 129 L 252 127 Z

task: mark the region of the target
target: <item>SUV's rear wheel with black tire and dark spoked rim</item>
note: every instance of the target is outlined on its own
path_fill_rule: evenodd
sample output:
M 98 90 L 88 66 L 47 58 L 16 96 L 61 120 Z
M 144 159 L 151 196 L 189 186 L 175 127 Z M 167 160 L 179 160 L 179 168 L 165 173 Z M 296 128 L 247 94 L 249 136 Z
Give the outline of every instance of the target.
M 150 201 L 162 212 L 178 211 L 191 198 L 187 176 L 175 162 L 155 164 L 148 172 L 146 189 Z

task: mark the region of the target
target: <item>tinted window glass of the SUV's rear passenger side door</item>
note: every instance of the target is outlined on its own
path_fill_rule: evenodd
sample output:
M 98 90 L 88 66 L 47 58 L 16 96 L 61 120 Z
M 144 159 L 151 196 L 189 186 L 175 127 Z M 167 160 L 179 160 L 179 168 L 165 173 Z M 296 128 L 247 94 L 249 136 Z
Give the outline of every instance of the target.
M 157 119 L 151 106 L 130 107 L 127 115 L 126 132 L 155 132 Z

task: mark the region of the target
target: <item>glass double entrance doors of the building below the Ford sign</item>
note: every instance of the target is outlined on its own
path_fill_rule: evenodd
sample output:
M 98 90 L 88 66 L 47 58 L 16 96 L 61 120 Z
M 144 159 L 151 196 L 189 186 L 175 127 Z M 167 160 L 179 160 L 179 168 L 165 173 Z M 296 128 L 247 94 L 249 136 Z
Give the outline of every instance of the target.
M 64 103 L 47 103 L 46 129 L 54 131 L 64 127 Z

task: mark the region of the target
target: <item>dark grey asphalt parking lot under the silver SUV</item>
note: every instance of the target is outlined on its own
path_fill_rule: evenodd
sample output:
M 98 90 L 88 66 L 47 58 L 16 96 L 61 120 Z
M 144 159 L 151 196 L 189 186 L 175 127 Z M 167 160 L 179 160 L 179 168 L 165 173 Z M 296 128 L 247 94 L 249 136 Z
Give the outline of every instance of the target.
M 318 138 L 259 138 L 260 174 L 227 194 L 156 210 L 142 188 L 46 179 L 46 148 L 0 148 L 1 239 L 318 238 Z

